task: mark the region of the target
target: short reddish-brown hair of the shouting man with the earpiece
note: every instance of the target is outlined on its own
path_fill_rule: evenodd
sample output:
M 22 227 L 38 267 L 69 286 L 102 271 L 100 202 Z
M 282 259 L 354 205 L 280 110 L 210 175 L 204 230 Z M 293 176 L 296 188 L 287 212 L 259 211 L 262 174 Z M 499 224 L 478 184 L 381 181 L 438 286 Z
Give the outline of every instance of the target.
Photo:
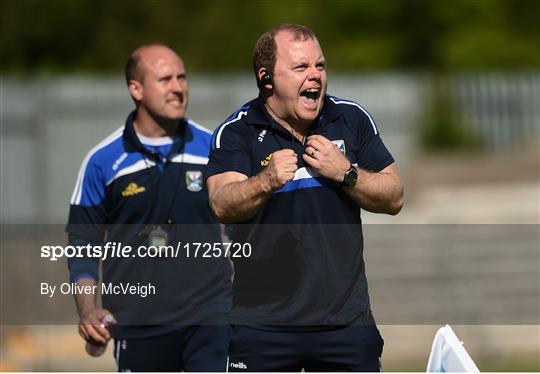
M 292 23 L 282 23 L 262 34 L 253 49 L 253 72 L 257 82 L 259 82 L 260 68 L 266 68 L 270 74 L 274 74 L 277 52 L 276 35 L 281 31 L 289 31 L 295 41 L 316 39 L 315 33 L 311 29 Z

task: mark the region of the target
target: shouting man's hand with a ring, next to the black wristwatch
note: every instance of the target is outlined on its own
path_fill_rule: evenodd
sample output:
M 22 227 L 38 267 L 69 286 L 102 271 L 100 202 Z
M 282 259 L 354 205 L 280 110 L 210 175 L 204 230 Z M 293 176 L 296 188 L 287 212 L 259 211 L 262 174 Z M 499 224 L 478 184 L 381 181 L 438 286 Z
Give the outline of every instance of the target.
M 343 182 L 351 163 L 338 147 L 322 135 L 309 136 L 306 145 L 302 155 L 304 161 L 321 176 L 334 182 Z

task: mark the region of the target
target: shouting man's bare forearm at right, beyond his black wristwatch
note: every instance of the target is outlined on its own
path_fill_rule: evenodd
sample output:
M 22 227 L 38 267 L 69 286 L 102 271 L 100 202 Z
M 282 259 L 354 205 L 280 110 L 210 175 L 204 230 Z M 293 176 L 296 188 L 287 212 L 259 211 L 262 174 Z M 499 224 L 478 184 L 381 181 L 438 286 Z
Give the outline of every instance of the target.
M 344 191 L 362 209 L 396 215 L 403 206 L 403 185 L 397 173 L 370 173 L 358 169 L 358 181 Z

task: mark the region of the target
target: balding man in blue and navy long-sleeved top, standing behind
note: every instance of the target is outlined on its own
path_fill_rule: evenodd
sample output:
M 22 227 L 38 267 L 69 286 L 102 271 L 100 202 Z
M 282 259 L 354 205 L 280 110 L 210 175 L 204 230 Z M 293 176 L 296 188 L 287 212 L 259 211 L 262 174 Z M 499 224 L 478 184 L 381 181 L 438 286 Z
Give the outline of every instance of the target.
M 99 245 L 105 236 L 133 248 L 220 242 L 204 184 L 211 132 L 185 117 L 189 86 L 181 58 L 165 45 L 145 45 L 132 53 L 125 74 L 135 110 L 82 164 L 70 244 Z M 228 260 L 146 254 L 103 260 L 103 284 L 152 285 L 155 292 L 104 294 L 103 308 L 95 294 L 76 295 L 80 335 L 94 346 L 113 337 L 119 371 L 224 371 Z M 99 259 L 72 258 L 70 279 L 96 285 L 98 267 Z M 109 314 L 112 328 L 104 323 Z

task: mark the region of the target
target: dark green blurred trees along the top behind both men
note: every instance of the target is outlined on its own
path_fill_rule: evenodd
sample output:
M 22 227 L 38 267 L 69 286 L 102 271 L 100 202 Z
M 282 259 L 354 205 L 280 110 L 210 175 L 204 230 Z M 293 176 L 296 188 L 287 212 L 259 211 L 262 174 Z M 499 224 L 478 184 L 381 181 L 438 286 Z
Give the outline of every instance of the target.
M 115 72 L 162 41 L 190 71 L 246 71 L 282 22 L 315 30 L 335 70 L 539 68 L 538 0 L 1 0 L 4 73 Z

